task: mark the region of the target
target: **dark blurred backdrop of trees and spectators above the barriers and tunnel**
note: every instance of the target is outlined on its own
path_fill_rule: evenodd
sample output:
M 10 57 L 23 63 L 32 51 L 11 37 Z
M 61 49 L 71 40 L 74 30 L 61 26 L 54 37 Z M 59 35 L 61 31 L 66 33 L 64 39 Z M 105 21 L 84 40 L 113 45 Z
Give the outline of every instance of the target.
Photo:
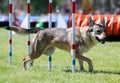
M 8 1 L 0 0 L 0 15 L 8 15 Z M 26 0 L 13 0 L 16 15 L 26 13 Z M 71 13 L 71 0 L 53 0 L 53 11 Z M 120 0 L 76 0 L 76 12 L 81 14 L 120 14 Z M 31 0 L 31 15 L 48 13 L 48 0 Z

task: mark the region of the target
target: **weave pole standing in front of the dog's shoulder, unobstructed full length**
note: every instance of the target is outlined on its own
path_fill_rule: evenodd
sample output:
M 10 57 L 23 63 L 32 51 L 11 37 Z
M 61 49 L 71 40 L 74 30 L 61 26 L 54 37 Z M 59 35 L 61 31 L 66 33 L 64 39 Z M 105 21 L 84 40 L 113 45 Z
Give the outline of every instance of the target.
M 72 0 L 72 46 L 71 46 L 71 55 L 72 55 L 72 73 L 75 73 L 75 4 L 76 0 Z

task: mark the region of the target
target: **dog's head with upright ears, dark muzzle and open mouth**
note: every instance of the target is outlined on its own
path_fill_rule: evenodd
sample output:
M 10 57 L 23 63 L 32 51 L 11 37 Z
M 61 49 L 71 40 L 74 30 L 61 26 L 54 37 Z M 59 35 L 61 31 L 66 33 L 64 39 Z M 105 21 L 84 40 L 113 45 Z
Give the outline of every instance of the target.
M 101 24 L 96 24 L 94 23 L 94 21 L 92 20 L 92 18 L 90 18 L 90 23 L 89 23 L 89 30 L 90 34 L 96 38 L 96 40 L 98 42 L 101 42 L 102 44 L 105 43 L 106 40 L 106 27 L 105 27 L 105 20 L 102 19 L 101 20 Z

